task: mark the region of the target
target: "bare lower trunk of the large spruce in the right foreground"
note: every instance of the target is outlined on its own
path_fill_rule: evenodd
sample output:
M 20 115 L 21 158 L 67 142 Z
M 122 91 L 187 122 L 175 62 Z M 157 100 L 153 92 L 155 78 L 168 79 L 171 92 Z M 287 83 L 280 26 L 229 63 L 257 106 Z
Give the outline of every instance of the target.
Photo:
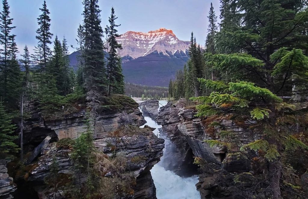
M 281 162 L 279 160 L 269 162 L 270 186 L 272 189 L 272 199 L 281 199 L 279 180 L 281 176 Z

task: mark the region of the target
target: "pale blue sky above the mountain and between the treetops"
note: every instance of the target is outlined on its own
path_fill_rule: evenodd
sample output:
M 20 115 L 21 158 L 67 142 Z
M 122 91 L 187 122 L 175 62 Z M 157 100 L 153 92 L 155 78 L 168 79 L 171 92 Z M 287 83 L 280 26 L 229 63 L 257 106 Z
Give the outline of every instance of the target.
M 37 18 L 40 14 L 43 0 L 8 0 L 14 34 L 19 51 L 25 45 L 33 49 L 37 41 L 35 31 L 38 28 Z M 173 30 L 181 40 L 189 41 L 193 31 L 197 42 L 204 45 L 208 26 L 207 15 L 210 3 L 216 11 L 219 20 L 219 0 L 99 0 L 102 10 L 102 27 L 108 23 L 111 7 L 118 16 L 119 34 L 128 30 L 148 32 L 160 27 Z M 76 47 L 76 32 L 82 23 L 82 0 L 46 0 L 51 17 L 51 32 L 59 38 L 63 35 L 69 45 Z M 74 49 L 70 49 L 71 52 Z

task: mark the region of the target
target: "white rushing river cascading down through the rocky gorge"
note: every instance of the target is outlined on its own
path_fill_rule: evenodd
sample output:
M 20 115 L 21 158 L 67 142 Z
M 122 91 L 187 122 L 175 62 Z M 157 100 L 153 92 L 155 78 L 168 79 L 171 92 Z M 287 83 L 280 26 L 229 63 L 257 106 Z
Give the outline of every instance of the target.
M 159 106 L 162 107 L 162 105 L 167 104 L 167 101 L 159 101 L 159 103 Z M 147 121 L 145 125 L 156 128 L 153 133 L 157 137 L 161 137 L 159 128 L 162 126 L 158 125 L 151 117 L 144 116 L 144 119 Z M 140 126 L 140 128 L 143 127 L 144 125 Z M 170 147 L 168 147 L 170 144 L 170 141 L 165 139 L 164 154 L 168 148 L 170 149 Z M 168 153 L 168 155 L 172 154 Z M 164 162 L 169 160 L 167 156 L 163 155 L 163 157 L 160 158 L 160 162 L 151 169 L 152 178 L 156 187 L 157 199 L 200 199 L 200 193 L 195 186 L 198 182 L 198 176 L 180 177 L 174 172 L 164 169 Z

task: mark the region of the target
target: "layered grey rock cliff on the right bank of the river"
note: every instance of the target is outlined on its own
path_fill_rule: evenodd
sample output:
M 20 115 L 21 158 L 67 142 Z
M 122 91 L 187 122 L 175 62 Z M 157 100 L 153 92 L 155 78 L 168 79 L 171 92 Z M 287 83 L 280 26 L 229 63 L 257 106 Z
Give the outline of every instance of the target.
M 240 146 L 258 138 L 252 132 L 240 128 L 234 122 L 225 119 L 220 120 L 223 127 L 215 126 L 213 129 L 208 129 L 209 121 L 207 121 L 207 118 L 196 117 L 196 113 L 197 111 L 194 107 L 186 107 L 185 100 L 179 100 L 176 104 L 169 102 L 160 109 L 157 123 L 163 125 L 164 132 L 167 133 L 167 136 L 178 149 L 178 152 L 175 153 L 177 164 L 189 164 L 187 155 L 189 150 L 192 150 L 193 156 L 201 158 L 208 165 L 209 173 L 204 173 L 199 178 L 199 184 L 197 184 L 202 198 L 205 198 L 211 194 L 213 187 L 216 186 L 205 186 L 204 183 L 205 181 L 211 181 L 213 174 L 211 170 L 221 168 L 229 172 L 248 172 L 250 170 L 250 161 L 239 153 Z M 222 130 L 237 133 L 238 145 L 232 147 L 229 151 L 225 147 L 212 148 L 204 142 L 204 140 L 220 140 L 215 132 L 221 132 Z

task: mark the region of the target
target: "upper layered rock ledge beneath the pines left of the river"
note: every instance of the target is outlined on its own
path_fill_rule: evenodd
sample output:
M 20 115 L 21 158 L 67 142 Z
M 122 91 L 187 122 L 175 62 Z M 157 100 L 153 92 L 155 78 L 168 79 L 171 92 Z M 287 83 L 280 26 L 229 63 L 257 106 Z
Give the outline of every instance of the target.
M 32 116 L 26 120 L 24 130 L 24 144 L 39 144 L 47 136 L 52 140 L 63 138 L 76 138 L 78 133 L 85 131 L 84 104 L 78 104 L 74 113 L 65 116 L 44 118 L 39 111 L 37 104 L 32 102 L 30 105 Z M 63 110 L 64 112 L 65 110 Z M 108 110 L 99 113 L 96 134 L 114 131 L 122 125 L 141 126 L 145 124 L 142 113 L 138 108 L 124 109 L 121 111 Z

